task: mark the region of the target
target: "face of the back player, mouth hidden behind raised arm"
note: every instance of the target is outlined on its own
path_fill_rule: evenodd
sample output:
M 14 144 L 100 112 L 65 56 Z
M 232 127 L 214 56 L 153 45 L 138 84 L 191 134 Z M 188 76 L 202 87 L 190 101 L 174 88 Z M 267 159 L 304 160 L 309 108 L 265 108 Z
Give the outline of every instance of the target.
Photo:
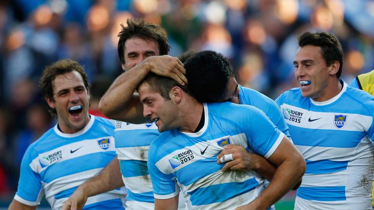
M 125 71 L 130 70 L 149 56 L 160 55 L 156 42 L 138 37 L 127 39 L 124 48 L 125 63 L 122 64 L 122 69 Z

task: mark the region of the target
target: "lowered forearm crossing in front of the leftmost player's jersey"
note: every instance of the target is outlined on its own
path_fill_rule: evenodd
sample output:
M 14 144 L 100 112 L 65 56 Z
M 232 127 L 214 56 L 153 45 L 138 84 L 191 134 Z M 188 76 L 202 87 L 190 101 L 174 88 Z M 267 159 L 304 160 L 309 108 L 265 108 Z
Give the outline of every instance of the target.
M 78 189 L 82 190 L 87 197 L 90 197 L 124 185 L 119 161 L 115 157 L 98 175 L 81 184 Z

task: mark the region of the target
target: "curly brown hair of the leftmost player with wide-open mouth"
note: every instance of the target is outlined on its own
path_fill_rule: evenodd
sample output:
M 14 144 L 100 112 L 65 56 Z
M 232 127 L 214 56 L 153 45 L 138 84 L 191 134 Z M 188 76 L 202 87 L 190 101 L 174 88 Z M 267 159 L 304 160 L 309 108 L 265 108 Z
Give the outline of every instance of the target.
M 44 96 L 55 101 L 53 97 L 54 80 L 58 75 L 72 71 L 77 71 L 82 76 L 84 87 L 89 90 L 90 83 L 88 82 L 88 76 L 84 71 L 83 66 L 74 60 L 62 59 L 47 66 L 43 71 L 39 81 L 39 86 L 42 88 Z M 48 106 L 48 111 L 52 116 L 56 117 L 56 109 Z

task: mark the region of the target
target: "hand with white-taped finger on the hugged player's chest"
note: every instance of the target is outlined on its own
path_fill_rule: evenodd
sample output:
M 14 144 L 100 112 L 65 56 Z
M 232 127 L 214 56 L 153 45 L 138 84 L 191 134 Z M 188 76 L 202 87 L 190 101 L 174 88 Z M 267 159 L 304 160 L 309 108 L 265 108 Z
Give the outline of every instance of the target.
M 232 154 L 233 160 L 226 162 L 222 171 L 228 169 L 233 171 L 255 170 L 258 164 L 258 155 L 249 153 L 243 146 L 229 144 L 224 146 L 224 150 L 217 156 L 217 163 L 221 164 L 220 158 L 224 155 Z

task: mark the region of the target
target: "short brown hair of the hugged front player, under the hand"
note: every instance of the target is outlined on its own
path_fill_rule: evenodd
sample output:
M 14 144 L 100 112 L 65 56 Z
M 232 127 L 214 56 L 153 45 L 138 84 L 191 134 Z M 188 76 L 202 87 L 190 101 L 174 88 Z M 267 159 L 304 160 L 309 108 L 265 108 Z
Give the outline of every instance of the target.
M 177 83 L 175 80 L 169 77 L 159 76 L 152 72 L 150 72 L 144 78 L 144 80 L 139 84 L 138 88 L 143 84 L 147 84 L 151 90 L 160 93 L 160 95 L 166 100 L 170 100 L 169 92 L 171 88 L 175 86 L 181 88 L 187 94 L 191 95 L 187 85 L 182 86 L 181 84 Z

